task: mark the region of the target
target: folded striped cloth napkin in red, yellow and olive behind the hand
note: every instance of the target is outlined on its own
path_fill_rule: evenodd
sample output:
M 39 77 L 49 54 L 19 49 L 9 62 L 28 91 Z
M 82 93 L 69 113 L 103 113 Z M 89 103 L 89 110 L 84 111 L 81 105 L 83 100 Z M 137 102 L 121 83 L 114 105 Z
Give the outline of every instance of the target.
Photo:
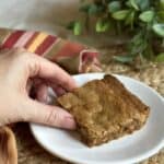
M 0 49 L 15 47 L 23 47 L 57 62 L 71 73 L 101 71 L 99 52 L 85 45 L 44 32 L 0 28 Z

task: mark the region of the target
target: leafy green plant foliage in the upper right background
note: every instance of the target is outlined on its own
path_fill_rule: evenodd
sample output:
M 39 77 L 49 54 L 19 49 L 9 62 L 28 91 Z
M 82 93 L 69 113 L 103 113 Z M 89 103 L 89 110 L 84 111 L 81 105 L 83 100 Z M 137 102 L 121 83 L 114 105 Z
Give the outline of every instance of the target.
M 83 0 L 80 12 L 96 20 L 96 33 L 121 33 L 131 37 L 126 56 L 116 56 L 120 62 L 132 62 L 136 57 L 164 61 L 164 0 Z M 69 25 L 74 35 L 87 27 L 86 22 L 73 21 Z M 156 54 L 154 43 L 160 43 L 162 51 Z

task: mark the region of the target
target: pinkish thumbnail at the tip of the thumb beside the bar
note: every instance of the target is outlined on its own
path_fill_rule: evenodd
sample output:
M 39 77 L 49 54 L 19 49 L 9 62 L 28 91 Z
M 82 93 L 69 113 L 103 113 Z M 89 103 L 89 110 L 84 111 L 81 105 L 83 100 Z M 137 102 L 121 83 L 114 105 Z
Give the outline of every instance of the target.
M 61 125 L 66 129 L 74 130 L 77 128 L 73 117 L 65 117 L 65 121 Z

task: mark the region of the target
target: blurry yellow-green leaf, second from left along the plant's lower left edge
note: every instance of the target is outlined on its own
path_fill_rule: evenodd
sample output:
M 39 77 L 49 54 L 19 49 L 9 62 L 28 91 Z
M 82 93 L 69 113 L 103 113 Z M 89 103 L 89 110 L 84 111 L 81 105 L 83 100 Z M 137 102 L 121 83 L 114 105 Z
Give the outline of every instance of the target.
M 95 31 L 97 33 L 103 33 L 103 32 L 106 32 L 107 30 L 109 28 L 109 22 L 108 20 L 103 20 L 103 19 L 99 19 L 97 22 L 96 22 L 96 25 L 95 25 Z

